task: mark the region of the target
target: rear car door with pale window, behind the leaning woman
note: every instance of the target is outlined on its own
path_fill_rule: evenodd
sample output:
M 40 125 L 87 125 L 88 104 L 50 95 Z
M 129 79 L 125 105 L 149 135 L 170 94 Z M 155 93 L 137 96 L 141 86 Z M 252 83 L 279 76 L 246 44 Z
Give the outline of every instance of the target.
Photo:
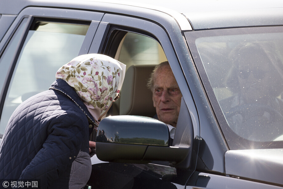
M 21 102 L 48 90 L 62 65 L 88 53 L 102 16 L 43 7 L 28 7 L 18 14 L 0 43 L 0 138 Z

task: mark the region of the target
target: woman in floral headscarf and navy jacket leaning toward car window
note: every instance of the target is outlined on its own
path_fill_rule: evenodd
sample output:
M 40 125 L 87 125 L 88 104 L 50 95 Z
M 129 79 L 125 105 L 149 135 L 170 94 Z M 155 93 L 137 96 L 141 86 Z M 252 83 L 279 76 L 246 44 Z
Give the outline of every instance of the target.
M 106 55 L 81 55 L 60 68 L 48 91 L 11 116 L 0 147 L 0 179 L 38 179 L 41 189 L 83 188 L 92 169 L 89 135 L 119 97 L 124 76 L 125 65 Z

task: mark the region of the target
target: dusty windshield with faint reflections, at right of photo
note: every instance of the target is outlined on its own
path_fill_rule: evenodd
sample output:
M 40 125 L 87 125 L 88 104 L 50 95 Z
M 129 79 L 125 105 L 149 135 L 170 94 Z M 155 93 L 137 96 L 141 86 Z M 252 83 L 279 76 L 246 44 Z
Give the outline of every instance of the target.
M 212 106 L 224 115 L 218 119 L 230 148 L 278 147 L 283 141 L 283 28 L 196 31 L 186 37 L 197 67 L 205 70 L 201 78 L 209 80 L 208 96 L 217 99 Z

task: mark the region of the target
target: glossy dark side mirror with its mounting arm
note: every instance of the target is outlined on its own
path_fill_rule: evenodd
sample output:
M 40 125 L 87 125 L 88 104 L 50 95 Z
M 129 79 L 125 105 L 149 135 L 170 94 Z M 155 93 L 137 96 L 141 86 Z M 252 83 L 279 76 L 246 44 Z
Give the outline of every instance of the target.
M 96 136 L 96 155 L 106 162 L 182 162 L 191 147 L 169 146 L 167 125 L 150 117 L 111 116 L 104 118 Z

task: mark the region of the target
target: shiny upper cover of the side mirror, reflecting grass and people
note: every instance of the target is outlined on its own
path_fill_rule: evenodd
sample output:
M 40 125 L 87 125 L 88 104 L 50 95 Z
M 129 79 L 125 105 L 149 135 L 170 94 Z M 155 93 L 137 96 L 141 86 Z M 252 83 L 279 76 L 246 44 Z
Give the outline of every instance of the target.
M 169 141 L 165 123 L 141 116 L 106 117 L 100 122 L 96 136 L 96 142 L 120 144 L 169 146 Z

